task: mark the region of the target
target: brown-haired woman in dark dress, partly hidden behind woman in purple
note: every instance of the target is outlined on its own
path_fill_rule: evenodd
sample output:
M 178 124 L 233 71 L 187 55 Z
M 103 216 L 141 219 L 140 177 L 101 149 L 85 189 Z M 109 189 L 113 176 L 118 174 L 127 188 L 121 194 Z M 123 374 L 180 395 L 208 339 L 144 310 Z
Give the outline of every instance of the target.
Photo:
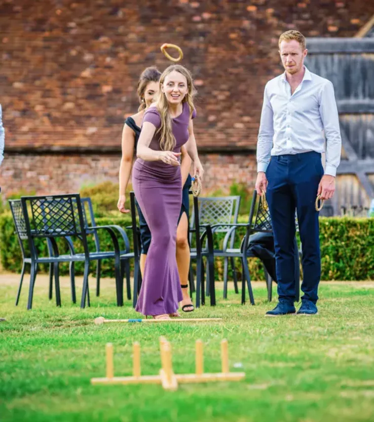
M 159 93 L 159 80 L 161 73 L 154 66 L 147 67 L 140 76 L 137 93 L 140 106 L 138 113 L 125 120 L 122 131 L 122 159 L 120 165 L 120 195 L 117 207 L 121 213 L 129 213 L 126 209 L 126 188 L 130 179 L 131 169 L 133 165 L 134 153 L 140 135 L 141 124 L 145 110 L 157 98 Z M 190 176 L 191 158 L 185 148 L 181 149 L 181 175 L 182 175 L 182 207 L 179 215 L 177 237 L 176 237 L 176 260 L 178 265 L 178 273 L 180 285 L 183 293 L 181 307 L 184 312 L 194 310 L 188 291 L 188 275 L 190 269 L 190 245 L 188 242 L 188 224 L 189 224 L 189 190 L 191 188 Z M 141 212 L 139 204 L 135 200 L 135 204 L 139 215 L 141 255 L 140 270 L 144 273 L 145 259 L 151 243 L 151 232 L 147 226 L 144 216 Z M 179 316 L 178 312 L 170 316 Z

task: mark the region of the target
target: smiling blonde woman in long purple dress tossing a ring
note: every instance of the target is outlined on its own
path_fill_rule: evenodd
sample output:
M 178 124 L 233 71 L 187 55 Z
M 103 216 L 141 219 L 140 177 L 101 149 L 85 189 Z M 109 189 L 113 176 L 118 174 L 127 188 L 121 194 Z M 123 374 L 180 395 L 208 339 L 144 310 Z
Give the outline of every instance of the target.
M 193 161 L 194 174 L 203 175 L 192 121 L 194 93 L 191 74 L 183 66 L 171 65 L 164 71 L 156 105 L 144 114 L 133 167 L 133 189 L 152 234 L 136 310 L 156 319 L 169 319 L 182 301 L 175 257 L 182 145 Z

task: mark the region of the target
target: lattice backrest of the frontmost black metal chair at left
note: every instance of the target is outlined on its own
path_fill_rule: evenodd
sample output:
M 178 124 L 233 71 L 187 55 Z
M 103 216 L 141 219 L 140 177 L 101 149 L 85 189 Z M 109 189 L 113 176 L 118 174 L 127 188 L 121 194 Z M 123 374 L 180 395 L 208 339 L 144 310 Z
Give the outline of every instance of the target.
M 85 237 L 79 194 L 24 196 L 21 201 L 31 237 Z

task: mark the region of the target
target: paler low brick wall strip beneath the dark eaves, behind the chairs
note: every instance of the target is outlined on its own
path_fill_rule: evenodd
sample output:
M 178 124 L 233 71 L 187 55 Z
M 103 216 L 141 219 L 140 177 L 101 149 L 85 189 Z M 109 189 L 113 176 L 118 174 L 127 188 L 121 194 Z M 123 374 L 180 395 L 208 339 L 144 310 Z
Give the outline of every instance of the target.
M 202 156 L 205 168 L 205 192 L 223 188 L 234 182 L 254 186 L 254 155 Z M 118 183 L 120 158 L 115 155 L 6 155 L 1 167 L 0 186 L 7 193 L 21 189 L 36 194 L 78 192 L 87 184 L 111 181 Z

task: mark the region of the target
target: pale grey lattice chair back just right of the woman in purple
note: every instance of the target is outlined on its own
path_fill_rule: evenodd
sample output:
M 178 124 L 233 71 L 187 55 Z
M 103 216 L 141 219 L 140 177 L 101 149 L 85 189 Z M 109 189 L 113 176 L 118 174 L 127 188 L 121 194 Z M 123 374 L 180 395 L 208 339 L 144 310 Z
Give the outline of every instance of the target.
M 231 224 L 238 221 L 240 196 L 198 198 L 199 224 Z M 190 227 L 195 227 L 195 215 L 192 214 Z M 201 227 L 201 230 L 205 230 Z M 216 232 L 227 232 L 228 227 L 218 227 Z

